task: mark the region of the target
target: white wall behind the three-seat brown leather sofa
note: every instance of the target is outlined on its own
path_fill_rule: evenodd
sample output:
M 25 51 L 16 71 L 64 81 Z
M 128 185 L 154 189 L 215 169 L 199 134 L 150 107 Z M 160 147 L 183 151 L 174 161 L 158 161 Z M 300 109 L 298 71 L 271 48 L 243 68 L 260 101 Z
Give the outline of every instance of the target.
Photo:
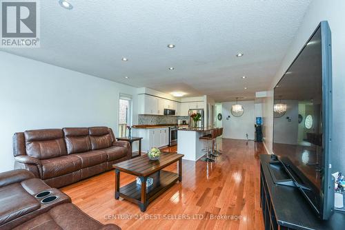
M 12 136 L 27 129 L 105 125 L 117 133 L 119 93 L 133 96 L 137 123 L 137 90 L 0 52 L 0 171 L 13 169 Z

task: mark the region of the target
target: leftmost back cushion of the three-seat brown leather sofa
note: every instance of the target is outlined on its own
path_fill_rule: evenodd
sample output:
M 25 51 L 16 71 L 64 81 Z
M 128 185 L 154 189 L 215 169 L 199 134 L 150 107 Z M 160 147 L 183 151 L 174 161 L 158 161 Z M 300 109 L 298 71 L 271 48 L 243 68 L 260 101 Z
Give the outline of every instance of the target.
M 61 129 L 38 129 L 24 132 L 26 154 L 38 159 L 67 155 Z

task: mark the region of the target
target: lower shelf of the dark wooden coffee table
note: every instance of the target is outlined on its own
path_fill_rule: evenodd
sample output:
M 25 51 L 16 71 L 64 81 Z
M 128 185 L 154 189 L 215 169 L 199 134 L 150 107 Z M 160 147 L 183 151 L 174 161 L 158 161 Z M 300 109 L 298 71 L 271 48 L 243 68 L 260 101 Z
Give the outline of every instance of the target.
M 137 185 L 137 181 L 130 182 L 128 185 L 121 187 L 119 193 L 115 194 L 115 198 L 118 199 L 121 197 L 130 202 L 134 202 L 139 205 L 141 211 L 146 211 L 146 207 L 152 200 L 172 187 L 179 180 L 179 174 L 164 170 L 157 171 L 148 177 L 153 178 L 153 185 L 146 187 L 146 196 L 144 198 L 141 196 L 141 185 Z M 141 178 L 141 181 L 146 180 L 146 178 Z

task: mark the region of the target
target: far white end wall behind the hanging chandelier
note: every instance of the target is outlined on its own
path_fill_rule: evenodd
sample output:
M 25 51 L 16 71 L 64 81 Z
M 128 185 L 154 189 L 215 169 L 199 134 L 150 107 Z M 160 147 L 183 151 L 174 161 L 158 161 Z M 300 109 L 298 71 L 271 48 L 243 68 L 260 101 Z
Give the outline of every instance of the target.
M 254 101 L 239 101 L 244 107 L 244 114 L 235 117 L 231 114 L 231 107 L 236 102 L 222 103 L 223 114 L 223 137 L 232 139 L 246 140 L 246 134 L 250 140 L 254 140 L 255 124 L 255 106 Z M 230 118 L 228 118 L 230 116 Z M 228 118 L 228 120 L 227 120 Z

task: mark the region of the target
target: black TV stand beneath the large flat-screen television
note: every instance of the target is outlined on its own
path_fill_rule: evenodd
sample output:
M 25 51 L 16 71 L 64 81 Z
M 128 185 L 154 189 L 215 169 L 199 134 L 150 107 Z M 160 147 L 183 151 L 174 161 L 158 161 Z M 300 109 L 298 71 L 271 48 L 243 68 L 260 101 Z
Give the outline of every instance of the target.
M 286 180 L 288 184 L 288 174 L 272 160 L 268 154 L 260 155 L 260 200 L 266 230 L 344 228 L 344 213 L 335 211 L 329 220 L 320 220 L 297 187 L 279 185 L 279 180 Z M 278 167 L 273 168 L 272 173 L 268 166 Z

